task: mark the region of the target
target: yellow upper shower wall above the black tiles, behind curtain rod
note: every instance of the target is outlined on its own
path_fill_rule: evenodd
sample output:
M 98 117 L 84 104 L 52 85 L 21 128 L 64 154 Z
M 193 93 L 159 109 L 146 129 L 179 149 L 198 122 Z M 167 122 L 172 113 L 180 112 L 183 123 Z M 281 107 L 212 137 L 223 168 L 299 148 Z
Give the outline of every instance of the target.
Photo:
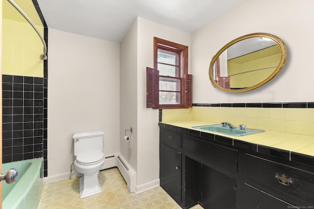
M 44 35 L 44 26 L 31 0 L 15 0 L 37 29 Z M 44 46 L 32 26 L 7 1 L 2 1 L 2 74 L 32 77 L 44 76 L 40 55 Z

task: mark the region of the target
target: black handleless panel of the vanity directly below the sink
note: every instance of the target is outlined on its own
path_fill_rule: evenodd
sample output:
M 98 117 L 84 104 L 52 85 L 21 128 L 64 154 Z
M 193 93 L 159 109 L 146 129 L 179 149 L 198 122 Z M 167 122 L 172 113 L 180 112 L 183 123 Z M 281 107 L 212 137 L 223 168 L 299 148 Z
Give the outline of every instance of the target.
M 208 166 L 218 166 L 237 172 L 237 150 L 208 141 L 183 136 L 183 151 L 186 156 Z

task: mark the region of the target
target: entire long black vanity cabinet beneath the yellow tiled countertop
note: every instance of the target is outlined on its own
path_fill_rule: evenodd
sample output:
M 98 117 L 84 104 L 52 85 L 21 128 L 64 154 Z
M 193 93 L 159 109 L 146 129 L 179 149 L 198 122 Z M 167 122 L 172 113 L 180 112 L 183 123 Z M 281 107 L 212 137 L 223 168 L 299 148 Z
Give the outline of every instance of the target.
M 182 208 L 314 208 L 313 165 L 259 153 L 231 138 L 159 126 L 160 186 Z

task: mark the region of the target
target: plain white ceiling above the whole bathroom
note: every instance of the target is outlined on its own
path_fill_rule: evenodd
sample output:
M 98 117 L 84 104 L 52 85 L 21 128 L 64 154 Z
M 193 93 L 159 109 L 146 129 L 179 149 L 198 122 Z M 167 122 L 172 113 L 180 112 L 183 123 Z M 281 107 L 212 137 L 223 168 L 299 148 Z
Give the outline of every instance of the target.
M 120 43 L 138 16 L 192 34 L 243 0 L 37 0 L 49 28 Z

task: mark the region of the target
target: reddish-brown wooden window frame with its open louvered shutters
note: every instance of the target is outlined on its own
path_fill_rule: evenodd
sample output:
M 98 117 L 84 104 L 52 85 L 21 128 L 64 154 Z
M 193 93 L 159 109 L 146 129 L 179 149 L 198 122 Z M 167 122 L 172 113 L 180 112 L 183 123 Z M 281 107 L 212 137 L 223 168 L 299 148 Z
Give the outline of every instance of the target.
M 159 75 L 157 54 L 158 48 L 179 52 L 178 77 Z M 173 78 L 180 80 L 180 103 L 159 104 L 159 78 Z M 147 68 L 147 108 L 189 108 L 192 107 L 192 75 L 188 74 L 188 46 L 173 43 L 164 39 L 154 37 L 154 69 Z

